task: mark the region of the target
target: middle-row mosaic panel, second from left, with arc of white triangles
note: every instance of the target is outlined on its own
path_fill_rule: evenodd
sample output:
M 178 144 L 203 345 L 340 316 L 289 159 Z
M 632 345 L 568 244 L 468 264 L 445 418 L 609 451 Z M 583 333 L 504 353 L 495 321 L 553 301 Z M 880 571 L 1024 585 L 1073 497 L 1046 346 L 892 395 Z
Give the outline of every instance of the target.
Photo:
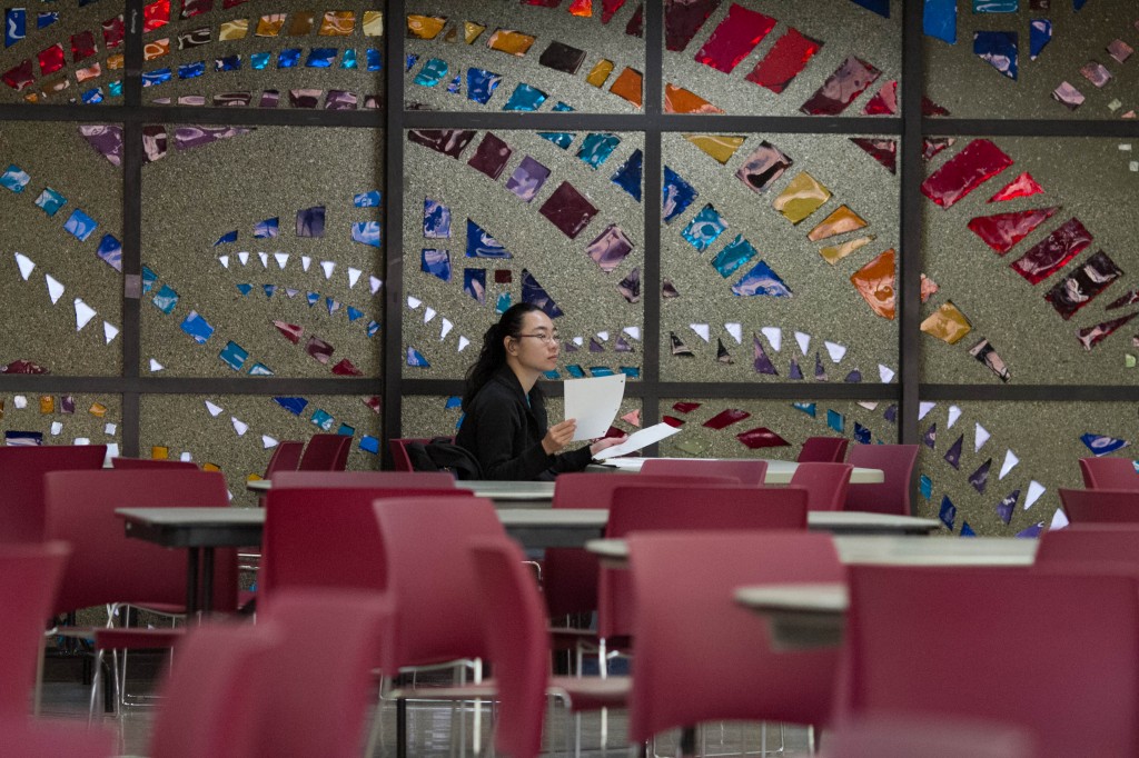
M 383 132 L 154 129 L 144 376 L 377 377 Z

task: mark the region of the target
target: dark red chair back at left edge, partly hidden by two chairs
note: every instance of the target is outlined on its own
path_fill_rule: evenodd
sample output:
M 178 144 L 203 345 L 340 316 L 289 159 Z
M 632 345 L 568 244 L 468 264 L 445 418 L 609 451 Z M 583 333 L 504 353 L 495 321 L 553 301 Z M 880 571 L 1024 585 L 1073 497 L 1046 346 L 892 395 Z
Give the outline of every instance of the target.
M 103 468 L 106 445 L 0 446 L 0 542 L 43 539 L 43 475 Z

